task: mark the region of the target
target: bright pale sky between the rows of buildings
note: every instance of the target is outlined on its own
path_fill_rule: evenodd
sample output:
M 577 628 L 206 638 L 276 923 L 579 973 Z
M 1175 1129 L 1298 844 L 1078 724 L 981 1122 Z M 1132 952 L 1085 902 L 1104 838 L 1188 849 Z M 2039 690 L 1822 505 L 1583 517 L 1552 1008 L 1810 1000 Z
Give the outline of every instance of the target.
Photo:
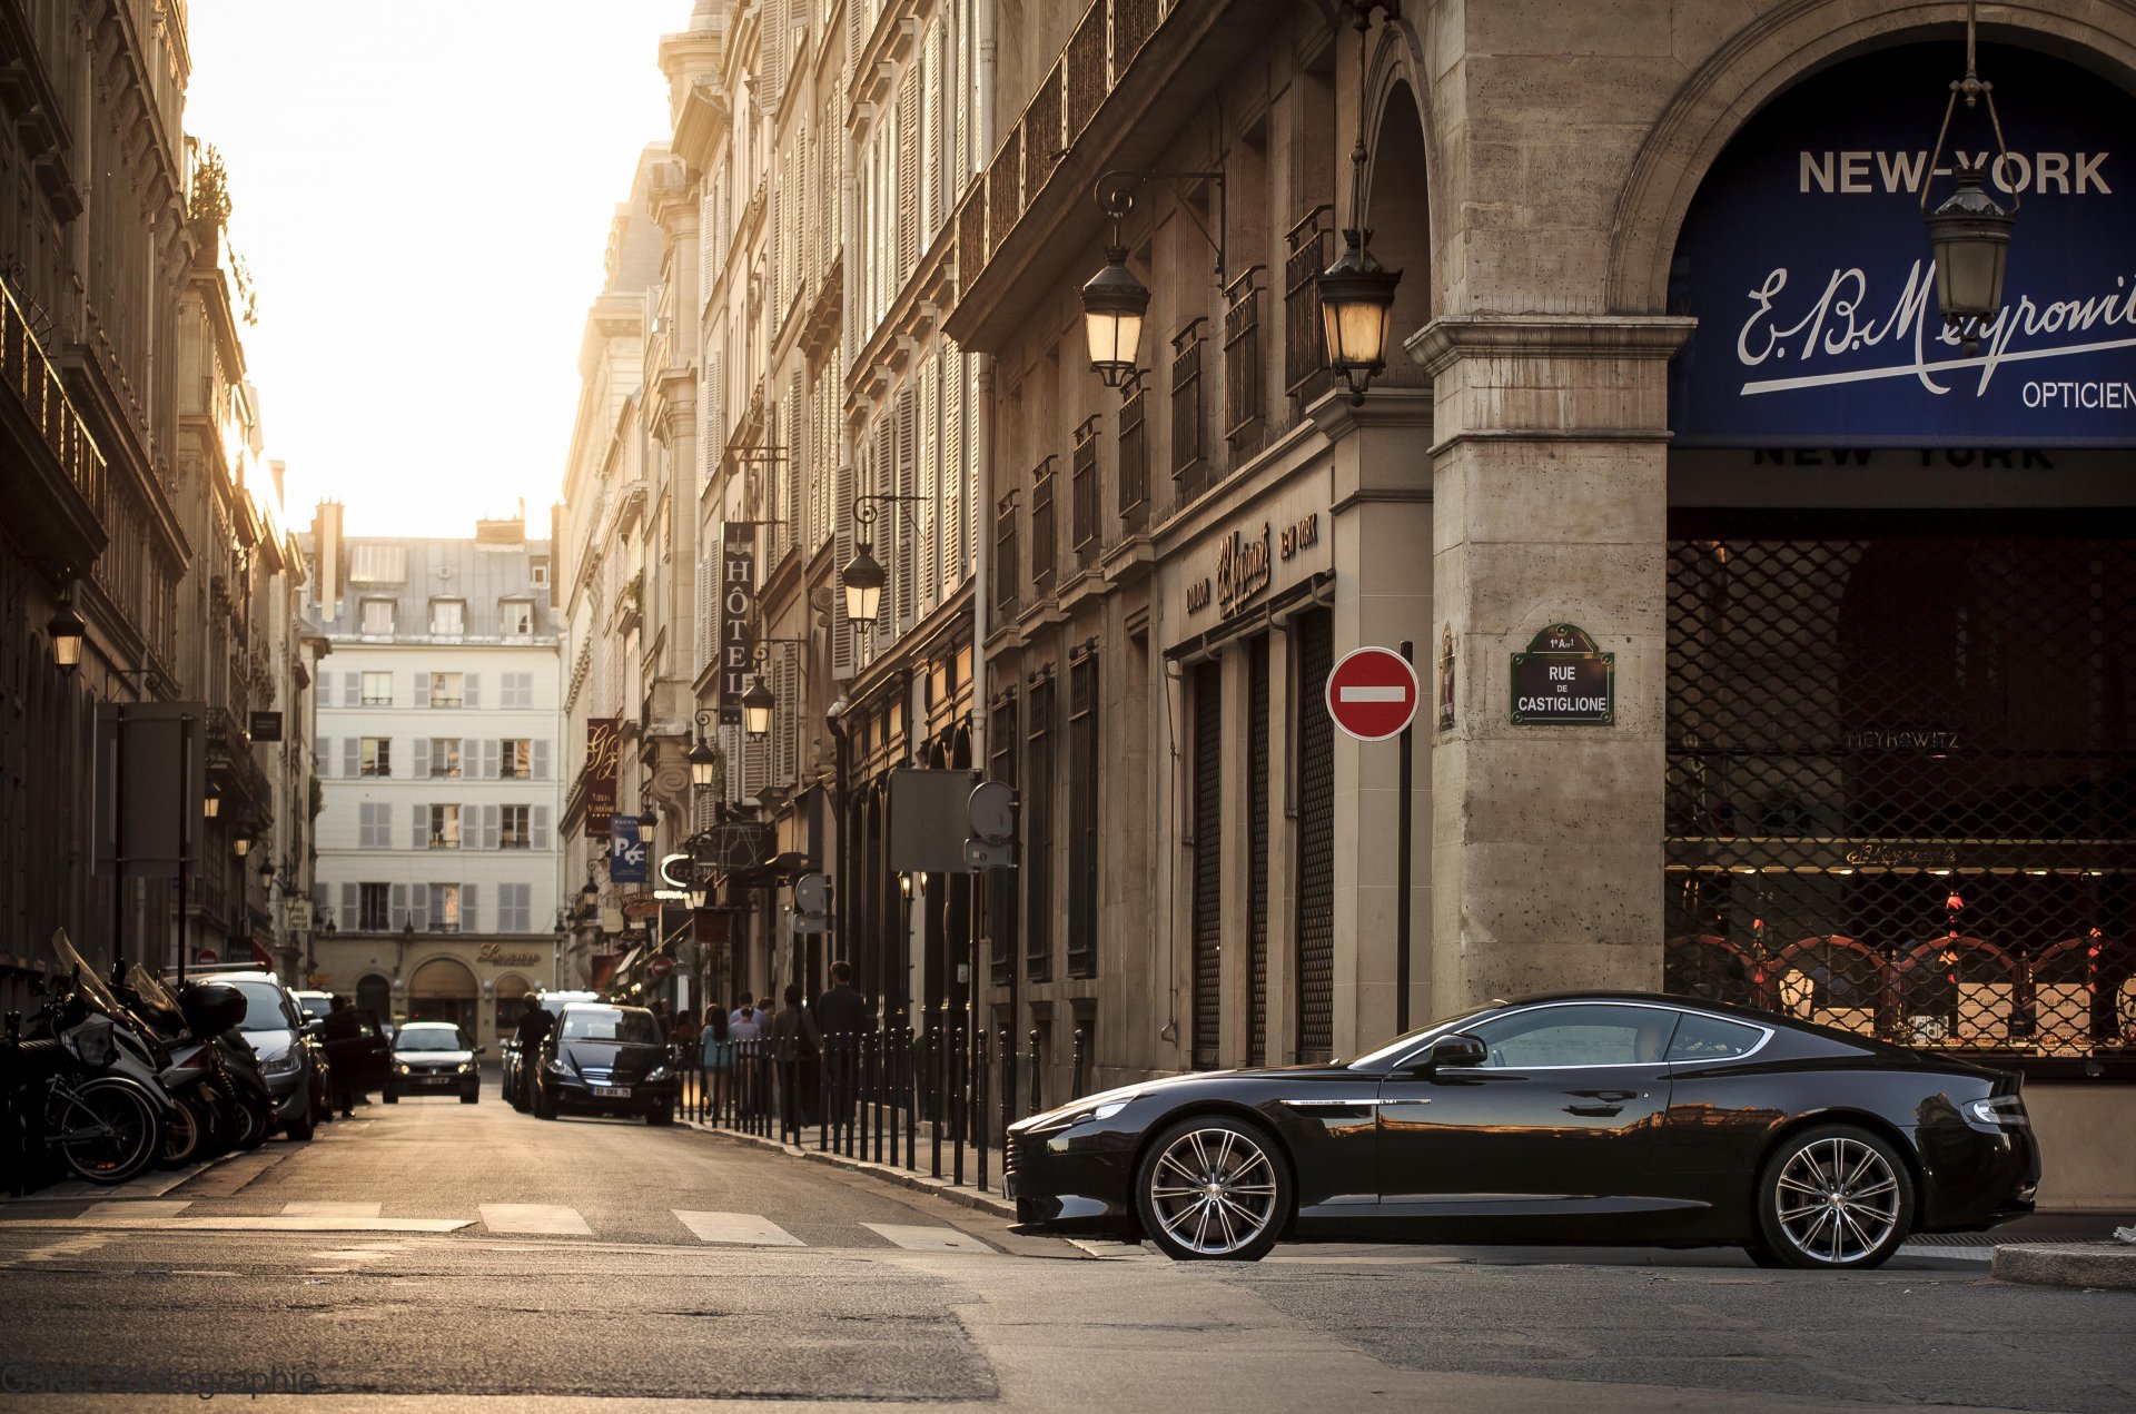
M 666 137 L 660 34 L 690 0 L 192 0 L 186 130 L 231 171 L 241 329 L 288 519 L 547 530 L 579 335 L 637 154 Z

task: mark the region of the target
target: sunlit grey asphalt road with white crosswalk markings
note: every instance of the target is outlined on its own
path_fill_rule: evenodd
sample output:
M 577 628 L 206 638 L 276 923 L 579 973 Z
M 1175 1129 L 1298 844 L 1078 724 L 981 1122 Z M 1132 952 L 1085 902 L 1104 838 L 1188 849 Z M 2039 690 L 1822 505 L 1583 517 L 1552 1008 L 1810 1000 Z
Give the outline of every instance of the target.
M 199 1408 L 278 1376 L 314 1410 L 2136 1405 L 2136 1294 L 2001 1286 L 1978 1260 L 1179 1267 L 688 1128 L 543 1124 L 493 1085 L 154 1192 L 173 1177 L 0 1205 L 0 1405 Z

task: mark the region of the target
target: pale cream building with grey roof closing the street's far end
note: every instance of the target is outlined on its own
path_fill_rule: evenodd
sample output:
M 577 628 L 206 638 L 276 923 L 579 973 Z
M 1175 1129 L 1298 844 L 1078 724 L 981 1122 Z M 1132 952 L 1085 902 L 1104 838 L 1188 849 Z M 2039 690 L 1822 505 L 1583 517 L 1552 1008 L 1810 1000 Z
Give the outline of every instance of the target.
M 523 519 L 466 540 L 305 538 L 318 690 L 314 985 L 395 1021 L 496 1044 L 557 987 L 562 673 L 549 540 Z

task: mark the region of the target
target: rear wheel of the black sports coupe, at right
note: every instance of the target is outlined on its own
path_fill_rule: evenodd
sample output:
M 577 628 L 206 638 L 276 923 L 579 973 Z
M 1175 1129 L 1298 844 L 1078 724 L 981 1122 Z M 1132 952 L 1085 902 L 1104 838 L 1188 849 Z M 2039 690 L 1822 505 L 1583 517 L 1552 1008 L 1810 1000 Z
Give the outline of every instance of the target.
M 1756 1205 L 1758 1237 L 1777 1267 L 1860 1271 L 1888 1262 L 1912 1230 L 1914 1177 L 1878 1134 L 1826 1124 L 1773 1151 Z

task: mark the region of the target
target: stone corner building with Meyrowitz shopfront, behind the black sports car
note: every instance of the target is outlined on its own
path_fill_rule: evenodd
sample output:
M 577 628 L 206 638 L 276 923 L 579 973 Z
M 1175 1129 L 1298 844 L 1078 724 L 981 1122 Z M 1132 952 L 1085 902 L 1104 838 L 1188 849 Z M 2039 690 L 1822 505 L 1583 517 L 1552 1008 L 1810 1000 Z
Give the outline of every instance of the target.
M 1982 11 L 2027 132 L 1986 361 L 1920 224 L 1963 4 L 1017 11 L 942 305 L 991 384 L 1000 1023 L 1102 1085 L 1666 983 L 2021 1066 L 2042 1200 L 2125 1200 L 2136 11 Z M 1203 173 L 1132 182 L 1128 397 L 1077 299 L 1119 171 Z M 1309 282 L 1348 224 L 1401 269 L 1356 406 Z M 1408 767 L 1326 722 L 1371 643 Z

